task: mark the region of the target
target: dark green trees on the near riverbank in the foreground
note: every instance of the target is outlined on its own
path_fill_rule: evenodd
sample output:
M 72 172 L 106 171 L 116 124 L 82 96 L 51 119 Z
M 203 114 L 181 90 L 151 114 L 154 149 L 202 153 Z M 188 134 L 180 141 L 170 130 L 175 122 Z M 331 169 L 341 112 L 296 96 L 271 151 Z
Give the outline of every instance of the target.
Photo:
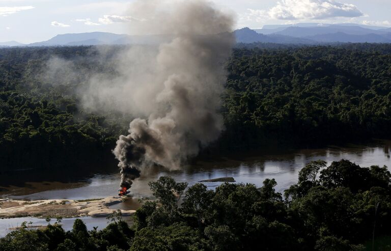
M 43 230 L 22 229 L 0 239 L 0 250 L 390 250 L 391 174 L 386 166 L 312 161 L 283 194 L 263 186 L 224 183 L 208 190 L 170 177 L 149 183 L 156 201 L 134 215 L 117 212 L 102 230 L 76 219 Z M 183 203 L 178 206 L 179 197 Z

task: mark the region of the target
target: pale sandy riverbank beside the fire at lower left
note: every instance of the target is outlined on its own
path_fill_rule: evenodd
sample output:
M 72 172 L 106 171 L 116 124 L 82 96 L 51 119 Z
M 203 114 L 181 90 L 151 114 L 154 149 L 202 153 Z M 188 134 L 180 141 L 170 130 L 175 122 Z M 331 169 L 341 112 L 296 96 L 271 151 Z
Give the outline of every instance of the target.
M 121 197 L 107 197 L 104 199 L 77 201 L 77 200 L 39 200 L 39 201 L 0 201 L 0 218 L 12 217 L 107 217 L 114 209 L 109 206 L 122 202 Z M 123 216 L 129 216 L 135 210 L 121 210 Z

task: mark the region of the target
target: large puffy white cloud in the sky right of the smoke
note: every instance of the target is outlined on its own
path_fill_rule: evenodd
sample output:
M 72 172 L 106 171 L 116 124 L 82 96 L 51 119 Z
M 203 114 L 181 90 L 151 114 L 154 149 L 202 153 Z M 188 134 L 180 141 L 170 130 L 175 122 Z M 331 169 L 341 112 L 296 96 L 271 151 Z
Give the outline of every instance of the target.
M 334 0 L 282 0 L 269 10 L 274 19 L 325 19 L 332 17 L 359 17 L 364 15 L 355 5 Z

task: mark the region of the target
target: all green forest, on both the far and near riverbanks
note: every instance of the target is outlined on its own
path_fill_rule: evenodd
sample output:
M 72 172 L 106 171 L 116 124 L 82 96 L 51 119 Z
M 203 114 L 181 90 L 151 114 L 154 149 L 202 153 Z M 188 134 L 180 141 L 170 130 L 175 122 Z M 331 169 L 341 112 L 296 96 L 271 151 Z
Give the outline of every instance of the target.
M 260 48 L 262 47 L 268 49 Z M 266 47 L 265 47 L 266 46 Z M 227 62 L 219 148 L 271 143 L 336 143 L 390 137 L 391 45 L 288 47 L 242 45 Z M 121 47 L 112 47 L 113 53 Z M 85 76 L 43 77 L 48 60 L 116 74 L 91 47 L 0 49 L 0 172 L 95 166 L 107 158 L 130 118 L 98 116 L 80 107 Z M 57 74 L 57 73 L 56 73 Z M 121 123 L 123 118 L 126 123 Z M 22 156 L 22 157 L 21 157 Z M 223 183 L 215 190 L 160 177 L 130 229 L 120 212 L 88 231 L 79 219 L 44 230 L 22 228 L 0 250 L 388 250 L 391 174 L 348 160 L 307 164 L 285 199 L 276 181 Z M 179 201 L 184 194 L 182 205 Z M 50 219 L 48 219 L 50 221 Z M 373 248 L 372 248 L 373 246 Z

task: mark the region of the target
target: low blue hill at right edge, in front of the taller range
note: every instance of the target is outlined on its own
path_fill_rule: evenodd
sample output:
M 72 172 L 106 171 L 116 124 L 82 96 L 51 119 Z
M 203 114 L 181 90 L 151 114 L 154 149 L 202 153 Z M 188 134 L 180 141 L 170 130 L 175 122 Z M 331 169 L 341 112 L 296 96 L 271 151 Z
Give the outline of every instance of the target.
M 323 42 L 351 42 L 351 43 L 391 43 L 391 40 L 377 34 L 366 34 L 366 35 L 351 35 L 342 32 L 332 34 L 319 34 L 315 36 L 306 37 L 307 39 Z

